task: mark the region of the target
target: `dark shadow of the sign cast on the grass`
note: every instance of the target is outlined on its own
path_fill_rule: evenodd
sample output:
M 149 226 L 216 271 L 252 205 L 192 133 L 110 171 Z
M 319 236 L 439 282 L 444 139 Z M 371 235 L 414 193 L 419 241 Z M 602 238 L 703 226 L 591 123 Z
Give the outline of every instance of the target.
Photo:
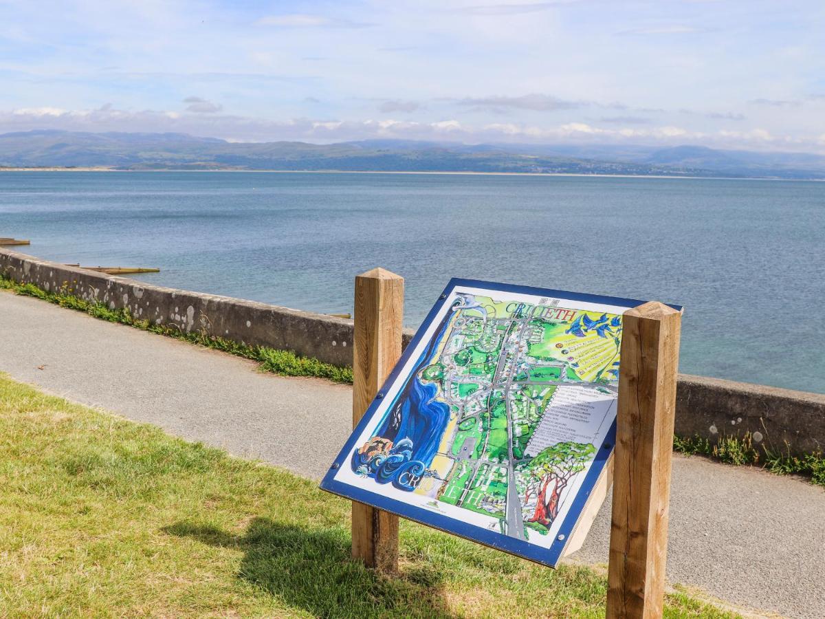
M 244 550 L 238 578 L 319 617 L 456 617 L 442 597 L 437 569 L 415 565 L 400 577 L 381 577 L 351 560 L 350 537 L 340 529 L 257 517 L 243 535 L 191 522 L 163 531 Z

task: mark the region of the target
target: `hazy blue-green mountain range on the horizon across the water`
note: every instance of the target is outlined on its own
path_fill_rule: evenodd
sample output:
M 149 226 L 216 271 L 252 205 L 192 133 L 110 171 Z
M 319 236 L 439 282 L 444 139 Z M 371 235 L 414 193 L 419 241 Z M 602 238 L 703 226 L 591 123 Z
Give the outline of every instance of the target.
M 825 179 L 825 156 L 704 146 L 454 144 L 368 139 L 233 143 L 177 133 L 35 130 L 0 135 L 0 168 L 543 172 Z

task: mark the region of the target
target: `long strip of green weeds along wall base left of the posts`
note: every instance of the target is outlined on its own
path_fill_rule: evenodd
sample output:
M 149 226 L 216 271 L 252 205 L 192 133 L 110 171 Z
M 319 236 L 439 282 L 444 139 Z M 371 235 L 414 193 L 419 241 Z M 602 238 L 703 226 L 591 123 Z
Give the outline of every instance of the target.
M 203 331 L 187 333 L 177 327 L 164 324 L 153 324 L 148 320 L 136 319 L 129 309 L 109 309 L 100 301 L 87 301 L 66 291 L 49 292 L 34 284 L 19 284 L 6 276 L 0 275 L 0 289 L 15 292 L 18 295 L 34 296 L 49 301 L 60 307 L 76 309 L 85 312 L 94 318 L 108 320 L 111 323 L 128 324 L 130 327 L 143 329 L 151 333 L 158 333 L 169 338 L 176 338 L 185 342 L 200 344 L 214 348 L 237 357 L 252 359 L 260 364 L 263 371 L 269 371 L 281 376 L 314 376 L 325 378 L 337 383 L 352 384 L 352 368 L 333 366 L 331 363 L 318 361 L 313 357 L 299 357 L 294 352 L 276 350 L 265 346 L 249 346 L 233 340 L 216 338 Z

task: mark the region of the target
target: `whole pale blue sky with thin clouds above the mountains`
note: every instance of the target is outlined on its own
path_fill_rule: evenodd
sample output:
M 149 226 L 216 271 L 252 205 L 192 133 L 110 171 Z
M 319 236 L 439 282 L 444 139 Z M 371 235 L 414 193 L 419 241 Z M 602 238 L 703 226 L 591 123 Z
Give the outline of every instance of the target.
M 0 0 L 0 132 L 825 153 L 825 2 Z

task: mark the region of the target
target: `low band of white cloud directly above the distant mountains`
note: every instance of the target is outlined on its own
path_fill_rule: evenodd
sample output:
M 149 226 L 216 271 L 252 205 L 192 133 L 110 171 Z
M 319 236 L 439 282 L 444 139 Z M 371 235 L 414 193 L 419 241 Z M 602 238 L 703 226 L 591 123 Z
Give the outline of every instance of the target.
M 210 102 L 187 97 L 189 106 Z M 210 107 L 211 109 L 211 107 Z M 605 119 L 607 120 L 607 119 Z M 528 125 L 513 122 L 469 124 L 460 120 L 421 122 L 416 120 L 317 120 L 295 118 L 266 120 L 205 111 L 127 111 L 111 105 L 95 110 L 64 110 L 57 107 L 0 111 L 0 133 L 22 130 L 178 132 L 230 141 L 269 142 L 305 140 L 329 143 L 353 139 L 394 138 L 444 140 L 463 143 L 605 143 L 605 144 L 713 144 L 719 148 L 820 149 L 825 134 L 803 141 L 771 135 L 766 130 L 719 130 L 695 132 L 673 125 L 643 125 L 634 118 L 614 119 L 615 126 L 598 127 L 585 122 Z M 625 125 L 625 126 L 622 126 Z

